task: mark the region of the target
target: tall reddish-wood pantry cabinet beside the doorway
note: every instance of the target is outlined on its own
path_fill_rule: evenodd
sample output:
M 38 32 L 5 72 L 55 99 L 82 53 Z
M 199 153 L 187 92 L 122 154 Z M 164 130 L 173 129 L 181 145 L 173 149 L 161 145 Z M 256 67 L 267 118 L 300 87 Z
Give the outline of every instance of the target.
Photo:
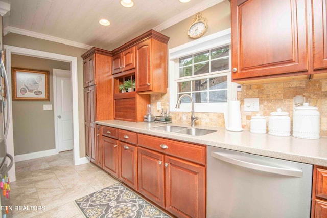
M 91 48 L 81 56 L 83 58 L 83 78 L 85 86 L 85 151 L 86 157 L 94 163 L 97 163 L 95 121 L 113 119 L 111 56 L 111 52 L 98 48 Z

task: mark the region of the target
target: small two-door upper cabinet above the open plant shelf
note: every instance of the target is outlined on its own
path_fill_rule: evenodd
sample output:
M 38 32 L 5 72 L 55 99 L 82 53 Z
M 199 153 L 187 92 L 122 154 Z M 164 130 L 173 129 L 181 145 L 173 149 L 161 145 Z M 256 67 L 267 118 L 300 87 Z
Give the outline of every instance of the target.
M 112 74 L 135 68 L 135 46 L 112 57 Z

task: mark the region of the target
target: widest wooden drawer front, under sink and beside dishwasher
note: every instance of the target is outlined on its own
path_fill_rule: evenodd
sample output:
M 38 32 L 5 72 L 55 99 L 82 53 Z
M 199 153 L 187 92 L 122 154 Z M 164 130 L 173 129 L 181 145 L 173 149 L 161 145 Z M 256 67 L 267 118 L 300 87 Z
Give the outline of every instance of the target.
M 138 134 L 138 145 L 205 165 L 205 146 Z

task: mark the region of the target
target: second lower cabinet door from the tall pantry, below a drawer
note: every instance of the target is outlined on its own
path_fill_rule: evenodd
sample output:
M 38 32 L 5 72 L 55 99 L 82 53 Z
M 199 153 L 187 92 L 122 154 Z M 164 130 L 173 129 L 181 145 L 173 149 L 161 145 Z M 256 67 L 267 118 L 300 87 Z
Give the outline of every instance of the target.
M 102 136 L 102 144 L 103 169 L 118 178 L 118 140 Z

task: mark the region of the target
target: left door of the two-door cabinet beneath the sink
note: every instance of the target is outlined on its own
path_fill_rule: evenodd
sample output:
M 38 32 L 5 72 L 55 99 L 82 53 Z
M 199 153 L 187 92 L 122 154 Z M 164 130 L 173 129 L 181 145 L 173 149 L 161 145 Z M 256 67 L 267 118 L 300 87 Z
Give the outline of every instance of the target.
M 164 155 L 145 148 L 137 148 L 138 191 L 165 207 Z

